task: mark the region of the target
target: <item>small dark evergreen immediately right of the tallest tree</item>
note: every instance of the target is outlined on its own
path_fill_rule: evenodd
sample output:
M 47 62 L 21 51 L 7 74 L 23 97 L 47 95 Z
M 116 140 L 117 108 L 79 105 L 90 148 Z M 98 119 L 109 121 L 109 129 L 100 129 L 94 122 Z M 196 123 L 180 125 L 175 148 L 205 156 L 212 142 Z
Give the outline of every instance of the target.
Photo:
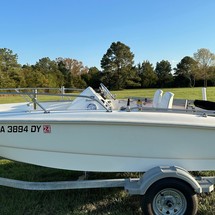
M 138 65 L 138 74 L 141 78 L 141 87 L 153 87 L 156 85 L 158 77 L 149 61 L 143 61 L 142 64 Z

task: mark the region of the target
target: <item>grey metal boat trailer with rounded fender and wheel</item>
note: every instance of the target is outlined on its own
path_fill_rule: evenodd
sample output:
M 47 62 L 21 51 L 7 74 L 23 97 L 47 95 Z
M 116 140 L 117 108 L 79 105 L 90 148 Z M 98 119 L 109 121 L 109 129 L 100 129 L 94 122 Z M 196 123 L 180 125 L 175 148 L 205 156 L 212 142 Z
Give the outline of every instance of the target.
M 198 210 L 197 194 L 214 190 L 215 176 L 193 177 L 177 166 L 157 166 L 140 178 L 26 182 L 0 178 L 0 185 L 25 190 L 66 190 L 122 187 L 141 195 L 144 214 L 190 214 Z

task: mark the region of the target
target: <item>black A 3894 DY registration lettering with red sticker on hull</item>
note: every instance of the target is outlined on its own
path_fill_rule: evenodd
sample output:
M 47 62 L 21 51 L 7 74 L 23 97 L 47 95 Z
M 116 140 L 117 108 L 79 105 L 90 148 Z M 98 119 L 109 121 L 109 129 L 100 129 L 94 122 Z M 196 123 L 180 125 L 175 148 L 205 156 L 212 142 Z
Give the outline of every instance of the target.
M 51 125 L 8 125 L 0 126 L 0 133 L 51 133 Z

